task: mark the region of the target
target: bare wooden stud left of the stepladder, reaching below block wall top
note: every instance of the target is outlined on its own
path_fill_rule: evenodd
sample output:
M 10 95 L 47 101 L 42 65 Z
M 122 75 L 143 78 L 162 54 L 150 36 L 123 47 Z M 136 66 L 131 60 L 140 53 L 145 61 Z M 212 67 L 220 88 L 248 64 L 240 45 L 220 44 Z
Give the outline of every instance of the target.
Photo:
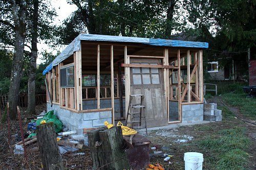
M 112 107 L 112 124 L 115 125 L 115 98 L 114 98 L 114 49 L 111 45 L 110 65 L 111 65 L 111 107 Z

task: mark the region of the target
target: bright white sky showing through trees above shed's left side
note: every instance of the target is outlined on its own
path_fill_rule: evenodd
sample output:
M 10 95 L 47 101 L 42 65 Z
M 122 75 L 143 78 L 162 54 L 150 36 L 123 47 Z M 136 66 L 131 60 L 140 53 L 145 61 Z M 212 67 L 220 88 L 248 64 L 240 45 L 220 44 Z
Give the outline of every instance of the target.
M 66 0 L 52 0 L 51 1 L 52 3 L 52 7 L 55 8 L 56 10 L 56 13 L 57 13 L 57 17 L 56 19 L 54 20 L 53 24 L 54 25 L 61 25 L 62 21 L 64 19 L 66 19 L 73 11 L 75 11 L 77 9 L 77 7 L 75 5 L 70 5 L 67 3 Z M 62 51 L 64 50 L 66 46 L 63 45 L 61 47 L 58 47 L 57 50 L 52 50 L 49 45 L 45 44 L 44 42 L 40 42 L 37 44 L 37 48 L 38 48 L 38 58 L 37 58 L 37 61 L 36 63 L 37 64 L 40 64 L 41 62 L 43 62 L 41 59 L 40 59 L 40 52 L 44 51 L 44 50 L 47 50 L 47 52 L 52 52 L 54 55 L 57 53 L 57 51 Z

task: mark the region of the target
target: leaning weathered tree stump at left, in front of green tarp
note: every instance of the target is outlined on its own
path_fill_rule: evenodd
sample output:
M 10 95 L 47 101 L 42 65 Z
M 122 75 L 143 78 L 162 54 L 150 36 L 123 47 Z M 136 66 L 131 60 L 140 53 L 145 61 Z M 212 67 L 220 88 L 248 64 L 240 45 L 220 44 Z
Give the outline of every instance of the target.
M 59 153 L 59 147 L 57 144 L 53 123 L 39 125 L 36 128 L 36 137 L 44 169 L 64 169 L 62 158 Z

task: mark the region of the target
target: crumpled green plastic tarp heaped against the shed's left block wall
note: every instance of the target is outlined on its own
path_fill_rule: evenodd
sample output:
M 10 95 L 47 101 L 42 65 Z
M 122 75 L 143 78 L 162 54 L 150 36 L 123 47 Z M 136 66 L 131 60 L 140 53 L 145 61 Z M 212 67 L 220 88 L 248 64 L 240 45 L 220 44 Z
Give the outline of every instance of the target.
M 52 122 L 55 128 L 55 133 L 59 133 L 62 130 L 63 124 L 60 122 L 57 116 L 54 115 L 53 113 L 54 113 L 53 110 L 51 110 L 47 112 L 43 118 L 36 120 L 36 126 L 41 125 L 42 120 L 46 120 L 46 123 Z

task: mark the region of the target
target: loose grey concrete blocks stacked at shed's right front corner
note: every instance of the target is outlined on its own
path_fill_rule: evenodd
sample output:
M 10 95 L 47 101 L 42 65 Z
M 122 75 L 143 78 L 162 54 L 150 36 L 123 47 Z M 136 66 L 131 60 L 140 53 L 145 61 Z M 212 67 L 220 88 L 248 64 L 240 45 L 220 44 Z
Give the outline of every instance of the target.
M 215 103 L 204 104 L 204 120 L 220 122 L 222 120 L 221 112 Z

